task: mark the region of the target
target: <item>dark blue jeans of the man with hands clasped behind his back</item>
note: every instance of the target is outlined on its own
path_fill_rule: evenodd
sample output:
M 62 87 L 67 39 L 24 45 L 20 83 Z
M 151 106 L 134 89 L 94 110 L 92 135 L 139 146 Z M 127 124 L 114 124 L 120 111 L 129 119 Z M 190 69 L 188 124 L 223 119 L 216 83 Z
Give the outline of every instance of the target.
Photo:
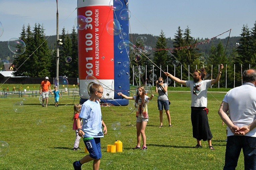
M 235 170 L 237 161 L 243 149 L 244 169 L 256 170 L 256 137 L 228 136 L 224 170 Z

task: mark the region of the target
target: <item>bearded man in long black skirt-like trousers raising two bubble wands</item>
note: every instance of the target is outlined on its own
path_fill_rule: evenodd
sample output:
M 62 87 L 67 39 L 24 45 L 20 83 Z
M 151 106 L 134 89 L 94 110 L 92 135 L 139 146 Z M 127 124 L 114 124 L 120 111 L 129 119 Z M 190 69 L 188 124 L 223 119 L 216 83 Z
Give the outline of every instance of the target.
M 221 71 L 223 64 L 220 65 L 220 70 L 215 79 L 203 80 L 206 77 L 206 70 L 204 68 L 195 69 L 193 72 L 194 80 L 181 80 L 172 74 L 165 72 L 166 76 L 180 83 L 184 86 L 190 87 L 191 92 L 191 123 L 193 129 L 193 137 L 196 139 L 196 146 L 193 148 L 201 148 L 201 140 L 208 142 L 209 149 L 215 150 L 211 144 L 212 134 L 208 122 L 207 108 L 207 89 L 221 78 Z

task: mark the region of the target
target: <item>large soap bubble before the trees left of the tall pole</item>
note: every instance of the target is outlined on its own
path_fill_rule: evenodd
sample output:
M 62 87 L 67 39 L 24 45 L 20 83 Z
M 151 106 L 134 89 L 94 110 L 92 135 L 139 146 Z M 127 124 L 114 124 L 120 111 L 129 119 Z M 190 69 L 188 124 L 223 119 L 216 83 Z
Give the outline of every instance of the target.
M 19 38 L 11 38 L 8 41 L 8 48 L 14 54 L 20 55 L 23 54 L 26 50 L 26 44 Z

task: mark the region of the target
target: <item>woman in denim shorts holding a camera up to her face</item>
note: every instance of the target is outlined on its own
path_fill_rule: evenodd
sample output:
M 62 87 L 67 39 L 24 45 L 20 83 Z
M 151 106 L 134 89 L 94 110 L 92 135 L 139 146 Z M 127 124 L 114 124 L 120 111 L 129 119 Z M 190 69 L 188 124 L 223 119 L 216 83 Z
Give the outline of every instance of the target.
M 159 94 L 157 98 L 157 106 L 159 110 L 159 117 L 160 117 L 160 126 L 161 128 L 163 126 L 163 109 L 165 110 L 169 127 L 172 127 L 171 124 L 171 116 L 169 112 L 169 99 L 167 96 L 167 84 L 164 83 L 163 77 L 158 77 L 158 80 L 156 80 L 156 92 Z

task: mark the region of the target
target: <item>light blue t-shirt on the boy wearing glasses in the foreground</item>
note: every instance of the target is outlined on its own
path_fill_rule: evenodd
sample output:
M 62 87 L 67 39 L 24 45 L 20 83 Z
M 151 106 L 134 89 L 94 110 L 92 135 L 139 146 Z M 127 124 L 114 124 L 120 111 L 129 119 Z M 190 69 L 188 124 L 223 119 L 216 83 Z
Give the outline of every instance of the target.
M 82 118 L 84 138 L 103 138 L 102 115 L 99 101 L 83 103 L 79 118 Z

